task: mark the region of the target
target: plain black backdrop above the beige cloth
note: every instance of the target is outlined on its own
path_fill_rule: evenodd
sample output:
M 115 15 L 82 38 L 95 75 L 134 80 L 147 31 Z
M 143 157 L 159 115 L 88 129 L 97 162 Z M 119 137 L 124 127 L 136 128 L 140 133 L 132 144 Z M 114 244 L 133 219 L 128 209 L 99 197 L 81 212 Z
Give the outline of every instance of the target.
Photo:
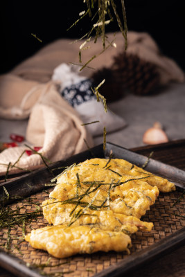
M 1 1 L 2 2 L 2 1 Z M 115 0 L 121 10 L 121 0 Z M 172 57 L 185 70 L 185 1 L 184 0 L 125 0 L 128 30 L 148 32 L 162 53 Z M 67 31 L 85 10 L 83 0 L 3 1 L 0 4 L 1 66 L 6 73 L 21 60 L 58 38 L 79 38 L 90 30 L 91 21 Z M 115 23 L 107 31 L 118 30 Z M 39 42 L 31 33 L 42 39 Z

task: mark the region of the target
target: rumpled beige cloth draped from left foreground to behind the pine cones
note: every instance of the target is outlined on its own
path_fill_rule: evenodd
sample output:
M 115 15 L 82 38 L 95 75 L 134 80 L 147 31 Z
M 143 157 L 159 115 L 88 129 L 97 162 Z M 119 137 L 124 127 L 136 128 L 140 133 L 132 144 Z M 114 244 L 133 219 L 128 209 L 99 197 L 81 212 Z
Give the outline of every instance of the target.
M 184 73 L 177 64 L 161 55 L 157 44 L 147 33 L 127 34 L 127 53 L 133 53 L 143 60 L 157 65 L 161 77 L 161 84 L 170 81 L 184 82 Z M 0 76 L 0 116 L 2 118 L 23 119 L 28 118 L 26 139 L 32 145 L 42 146 L 42 154 L 57 161 L 66 159 L 86 149 L 84 139 L 92 146 L 92 139 L 76 111 L 65 102 L 51 82 L 51 76 L 56 66 L 62 62 L 78 62 L 79 46 L 84 41 L 76 44 L 71 39 L 59 39 L 42 48 L 33 57 L 28 58 L 6 75 Z M 114 42 L 116 47 L 109 47 L 104 53 L 102 42 L 90 42 L 89 49 L 82 51 L 82 63 L 97 55 L 89 66 L 100 69 L 111 66 L 112 58 L 123 51 L 124 39 L 121 33 L 109 34 L 109 42 Z M 89 76 L 92 69 L 85 68 L 82 75 Z M 3 132 L 3 130 L 1 130 Z M 10 148 L 0 154 L 0 163 L 15 163 L 24 147 Z M 30 157 L 24 156 L 17 166 L 26 168 L 37 166 L 41 163 L 38 154 Z M 0 171 L 5 171 L 6 166 L 0 166 Z

